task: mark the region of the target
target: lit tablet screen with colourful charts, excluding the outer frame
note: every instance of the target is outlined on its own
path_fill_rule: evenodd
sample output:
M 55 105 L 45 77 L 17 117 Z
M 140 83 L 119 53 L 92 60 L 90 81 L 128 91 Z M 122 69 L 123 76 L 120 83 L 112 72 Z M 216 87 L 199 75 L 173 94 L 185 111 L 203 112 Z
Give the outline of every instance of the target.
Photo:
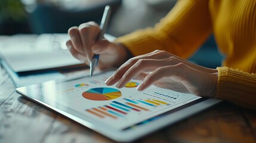
M 112 128 L 124 130 L 166 111 L 198 100 L 192 94 L 181 94 L 167 89 L 150 88 L 137 91 L 138 80 L 131 80 L 124 88 L 106 86 L 112 71 L 93 77 L 67 82 L 46 82 L 41 87 L 30 87 L 29 95 L 47 102 L 58 102 Z

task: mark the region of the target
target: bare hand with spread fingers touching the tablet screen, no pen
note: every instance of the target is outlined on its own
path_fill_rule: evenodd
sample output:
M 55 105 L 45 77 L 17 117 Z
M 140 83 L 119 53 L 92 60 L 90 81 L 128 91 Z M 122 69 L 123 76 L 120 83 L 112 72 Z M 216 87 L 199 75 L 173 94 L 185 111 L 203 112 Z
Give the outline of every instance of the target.
M 214 97 L 218 71 L 190 63 L 166 51 L 153 51 L 129 59 L 106 80 L 106 85 L 124 87 L 131 79 L 143 80 L 138 91 L 150 85 L 202 97 Z

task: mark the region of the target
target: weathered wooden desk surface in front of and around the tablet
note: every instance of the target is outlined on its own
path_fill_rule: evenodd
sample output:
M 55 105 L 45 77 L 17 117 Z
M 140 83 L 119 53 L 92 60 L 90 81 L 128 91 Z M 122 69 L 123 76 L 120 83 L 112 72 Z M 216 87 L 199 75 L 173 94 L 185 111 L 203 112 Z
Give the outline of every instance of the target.
M 17 94 L 0 75 L 0 142 L 113 142 Z M 256 142 L 256 111 L 223 102 L 135 142 Z

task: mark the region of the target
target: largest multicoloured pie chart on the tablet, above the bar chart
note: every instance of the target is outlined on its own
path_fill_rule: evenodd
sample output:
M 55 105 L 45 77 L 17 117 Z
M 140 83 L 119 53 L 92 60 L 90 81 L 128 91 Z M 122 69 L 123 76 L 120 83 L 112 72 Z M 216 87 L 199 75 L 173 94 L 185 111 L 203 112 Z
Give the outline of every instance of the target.
M 104 101 L 121 97 L 122 93 L 115 88 L 91 88 L 82 93 L 87 100 Z

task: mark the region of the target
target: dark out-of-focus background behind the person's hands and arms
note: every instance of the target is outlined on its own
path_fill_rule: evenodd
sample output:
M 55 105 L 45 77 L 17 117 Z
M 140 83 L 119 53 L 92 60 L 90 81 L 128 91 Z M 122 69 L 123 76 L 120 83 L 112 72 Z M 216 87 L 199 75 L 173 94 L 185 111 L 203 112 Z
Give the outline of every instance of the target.
M 67 33 L 87 21 L 100 23 L 104 6 L 111 5 L 107 33 L 122 36 L 154 26 L 176 0 L 0 0 L 0 35 Z M 213 36 L 190 61 L 206 67 L 221 63 Z M 209 54 L 211 53 L 211 54 Z

